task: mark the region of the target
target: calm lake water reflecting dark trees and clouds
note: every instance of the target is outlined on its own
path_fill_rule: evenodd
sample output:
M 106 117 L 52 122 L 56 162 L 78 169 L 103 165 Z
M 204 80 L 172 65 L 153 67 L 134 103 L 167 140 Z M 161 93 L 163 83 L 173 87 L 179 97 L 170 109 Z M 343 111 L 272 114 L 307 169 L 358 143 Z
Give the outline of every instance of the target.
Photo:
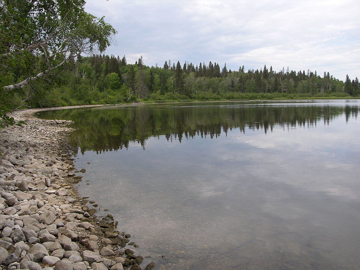
M 359 269 L 359 108 L 220 102 L 40 116 L 76 121 L 80 194 L 134 235 L 151 256 L 142 267 Z

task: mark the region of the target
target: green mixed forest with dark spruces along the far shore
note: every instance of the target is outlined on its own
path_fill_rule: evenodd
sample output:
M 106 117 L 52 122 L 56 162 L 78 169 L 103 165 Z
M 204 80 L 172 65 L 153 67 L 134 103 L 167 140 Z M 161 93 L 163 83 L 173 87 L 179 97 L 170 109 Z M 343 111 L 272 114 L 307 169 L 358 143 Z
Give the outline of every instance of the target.
M 232 71 L 226 64 L 166 60 L 160 67 L 146 66 L 141 56 L 128 64 L 125 55 L 78 57 L 51 84 L 38 84 L 36 94 L 15 94 L 13 104 L 29 107 L 56 107 L 83 104 L 122 104 L 183 100 L 344 98 L 359 95 L 359 80 L 334 78 L 329 72 L 318 75 L 307 70 L 272 67 Z

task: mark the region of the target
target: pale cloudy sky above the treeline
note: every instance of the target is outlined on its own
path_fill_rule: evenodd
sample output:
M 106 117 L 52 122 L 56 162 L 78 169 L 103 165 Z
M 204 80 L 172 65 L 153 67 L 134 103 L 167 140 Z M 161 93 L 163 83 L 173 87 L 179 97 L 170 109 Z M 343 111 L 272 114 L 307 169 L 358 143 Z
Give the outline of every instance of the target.
M 104 53 L 127 63 L 360 77 L 359 0 L 87 0 L 85 10 L 117 30 Z

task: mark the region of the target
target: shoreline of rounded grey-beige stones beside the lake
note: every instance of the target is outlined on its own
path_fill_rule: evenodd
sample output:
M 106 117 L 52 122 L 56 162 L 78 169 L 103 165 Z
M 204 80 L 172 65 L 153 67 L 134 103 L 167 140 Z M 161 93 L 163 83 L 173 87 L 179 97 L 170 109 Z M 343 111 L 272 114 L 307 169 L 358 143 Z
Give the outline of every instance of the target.
M 40 110 L 14 111 L 27 125 L 0 130 L 0 270 L 141 270 L 131 235 L 78 196 L 71 121 L 36 118 Z

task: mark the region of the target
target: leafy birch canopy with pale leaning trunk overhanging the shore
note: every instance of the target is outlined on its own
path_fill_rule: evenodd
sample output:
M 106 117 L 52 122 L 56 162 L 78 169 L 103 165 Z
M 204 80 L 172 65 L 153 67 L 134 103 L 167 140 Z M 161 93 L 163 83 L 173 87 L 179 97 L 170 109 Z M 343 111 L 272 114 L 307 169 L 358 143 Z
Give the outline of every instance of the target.
M 84 0 L 0 0 L 0 86 L 47 80 L 73 59 L 102 52 L 114 28 L 84 10 Z

